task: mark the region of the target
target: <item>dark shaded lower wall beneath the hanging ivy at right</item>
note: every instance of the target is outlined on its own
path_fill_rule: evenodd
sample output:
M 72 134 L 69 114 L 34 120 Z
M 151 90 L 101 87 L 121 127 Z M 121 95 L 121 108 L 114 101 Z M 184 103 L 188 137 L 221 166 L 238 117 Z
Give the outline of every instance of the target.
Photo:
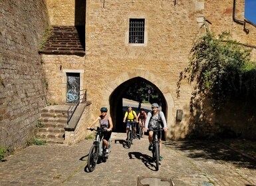
M 215 112 L 209 100 L 204 101 L 204 109 L 184 116 L 188 126 L 176 122 L 176 131 L 189 139 L 245 138 L 256 140 L 256 106 L 251 100 L 233 100 Z M 179 126 L 180 125 L 180 126 Z M 174 135 L 174 139 L 176 136 Z

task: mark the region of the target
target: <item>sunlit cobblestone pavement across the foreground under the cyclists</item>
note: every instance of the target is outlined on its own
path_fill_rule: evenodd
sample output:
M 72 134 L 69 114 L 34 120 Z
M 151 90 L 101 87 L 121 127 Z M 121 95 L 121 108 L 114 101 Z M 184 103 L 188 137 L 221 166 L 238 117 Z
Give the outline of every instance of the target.
M 93 140 L 27 147 L 0 163 L 0 185 L 256 185 L 256 162 L 225 145 L 165 141 L 156 171 L 148 140 L 134 140 L 128 149 L 122 145 L 125 137 L 112 134 L 108 160 L 92 173 L 86 165 Z

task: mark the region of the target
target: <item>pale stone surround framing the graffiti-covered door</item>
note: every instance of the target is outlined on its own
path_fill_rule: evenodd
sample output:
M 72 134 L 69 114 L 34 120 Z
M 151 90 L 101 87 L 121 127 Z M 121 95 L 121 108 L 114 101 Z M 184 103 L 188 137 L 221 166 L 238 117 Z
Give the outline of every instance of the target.
M 66 73 L 79 73 L 79 78 L 80 78 L 80 90 L 84 89 L 84 84 L 83 84 L 83 79 L 84 79 L 84 70 L 74 70 L 74 69 L 63 69 L 63 86 L 62 86 L 62 98 L 63 102 L 66 103 Z M 82 96 L 80 97 L 80 99 Z

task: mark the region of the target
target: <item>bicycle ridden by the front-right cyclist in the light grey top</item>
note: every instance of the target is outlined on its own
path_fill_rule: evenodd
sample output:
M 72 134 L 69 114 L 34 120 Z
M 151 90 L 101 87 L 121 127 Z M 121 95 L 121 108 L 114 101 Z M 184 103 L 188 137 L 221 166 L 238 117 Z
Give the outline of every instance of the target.
M 158 138 L 158 132 L 161 132 L 162 128 L 153 128 L 153 149 L 152 149 L 152 158 L 153 161 L 156 161 L 156 171 L 159 170 L 159 156 L 160 156 L 160 139 Z M 161 135 L 160 135 L 161 136 Z

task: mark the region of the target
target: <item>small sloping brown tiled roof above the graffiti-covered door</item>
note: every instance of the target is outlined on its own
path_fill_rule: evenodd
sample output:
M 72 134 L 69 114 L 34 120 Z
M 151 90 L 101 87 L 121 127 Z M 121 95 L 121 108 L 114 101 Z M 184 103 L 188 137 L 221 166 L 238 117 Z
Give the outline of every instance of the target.
M 41 54 L 74 54 L 84 56 L 84 28 L 53 26 Z

